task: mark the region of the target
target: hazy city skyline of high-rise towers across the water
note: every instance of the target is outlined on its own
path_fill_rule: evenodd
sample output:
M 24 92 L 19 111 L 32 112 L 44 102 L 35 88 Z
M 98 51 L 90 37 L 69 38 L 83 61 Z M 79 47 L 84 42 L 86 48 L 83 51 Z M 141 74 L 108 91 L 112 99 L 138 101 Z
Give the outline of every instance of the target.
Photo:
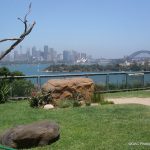
M 15 49 L 9 53 L 3 62 L 71 62 L 79 63 L 86 61 L 87 58 L 92 58 L 85 52 L 78 52 L 75 50 L 62 50 L 61 52 L 56 51 L 54 48 L 44 45 L 43 48 L 39 49 L 36 46 L 31 48 L 24 48 L 22 45 L 18 49 Z

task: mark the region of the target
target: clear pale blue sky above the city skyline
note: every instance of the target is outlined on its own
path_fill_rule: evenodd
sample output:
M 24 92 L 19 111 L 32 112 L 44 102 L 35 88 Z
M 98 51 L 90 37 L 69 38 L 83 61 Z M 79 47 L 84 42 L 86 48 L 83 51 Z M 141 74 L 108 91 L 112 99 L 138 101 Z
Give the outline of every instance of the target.
M 1 0 L 0 39 L 23 32 L 24 17 L 32 2 L 29 23 L 33 31 L 23 48 L 44 45 L 58 52 L 76 50 L 94 58 L 122 58 L 150 50 L 150 0 Z M 10 43 L 1 43 L 4 50 Z M 18 46 L 19 47 L 19 46 Z

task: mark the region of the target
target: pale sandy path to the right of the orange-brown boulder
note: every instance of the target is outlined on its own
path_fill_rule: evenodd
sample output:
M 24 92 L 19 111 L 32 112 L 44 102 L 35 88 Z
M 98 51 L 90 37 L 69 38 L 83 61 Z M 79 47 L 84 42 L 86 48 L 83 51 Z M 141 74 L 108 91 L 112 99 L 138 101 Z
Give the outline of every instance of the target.
M 109 98 L 108 101 L 113 101 L 115 104 L 141 104 L 150 106 L 150 98 Z

